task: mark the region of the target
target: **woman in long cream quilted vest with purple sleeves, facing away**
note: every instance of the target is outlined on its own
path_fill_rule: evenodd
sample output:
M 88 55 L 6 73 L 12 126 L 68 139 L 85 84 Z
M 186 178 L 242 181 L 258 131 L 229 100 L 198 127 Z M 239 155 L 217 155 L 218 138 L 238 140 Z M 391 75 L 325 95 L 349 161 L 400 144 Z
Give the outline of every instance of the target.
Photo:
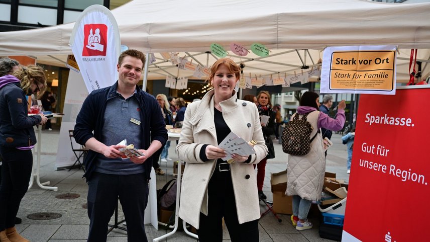
M 317 111 L 319 108 L 319 95 L 314 92 L 305 92 L 300 98 L 297 113 L 291 116 L 307 114 L 306 120 L 312 125 L 313 137 L 320 128 L 341 130 L 345 123 L 345 100 L 339 103 L 336 119 Z M 310 138 L 309 137 L 309 138 Z M 307 220 L 312 201 L 321 199 L 323 191 L 324 174 L 326 172 L 326 156 L 323 148 L 323 136 L 319 132 L 311 142 L 309 153 L 305 155 L 289 155 L 287 165 L 287 190 L 285 194 L 292 196 L 293 215 L 291 221 L 297 230 L 312 228 Z

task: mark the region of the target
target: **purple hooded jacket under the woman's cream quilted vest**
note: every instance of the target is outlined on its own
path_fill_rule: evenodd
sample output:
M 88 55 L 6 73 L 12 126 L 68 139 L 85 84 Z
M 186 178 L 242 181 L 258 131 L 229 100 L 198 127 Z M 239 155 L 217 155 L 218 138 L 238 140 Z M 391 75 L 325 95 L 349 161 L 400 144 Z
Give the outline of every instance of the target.
M 315 111 L 315 108 L 308 107 L 308 106 L 299 106 L 297 108 L 297 113 L 299 114 L 305 114 L 308 112 Z M 344 127 L 345 124 L 345 110 L 339 109 L 338 113 L 336 114 L 335 118 L 329 117 L 329 115 L 319 112 L 318 115 L 318 129 L 319 128 L 326 128 L 334 131 L 339 131 Z

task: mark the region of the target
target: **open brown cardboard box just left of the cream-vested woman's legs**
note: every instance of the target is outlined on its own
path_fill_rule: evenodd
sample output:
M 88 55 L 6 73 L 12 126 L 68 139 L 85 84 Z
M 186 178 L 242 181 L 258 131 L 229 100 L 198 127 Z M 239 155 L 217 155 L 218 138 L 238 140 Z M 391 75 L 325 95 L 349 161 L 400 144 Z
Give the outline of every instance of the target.
M 287 190 L 287 171 L 272 173 L 270 185 L 273 193 L 273 211 L 292 214 L 292 197 L 285 195 Z

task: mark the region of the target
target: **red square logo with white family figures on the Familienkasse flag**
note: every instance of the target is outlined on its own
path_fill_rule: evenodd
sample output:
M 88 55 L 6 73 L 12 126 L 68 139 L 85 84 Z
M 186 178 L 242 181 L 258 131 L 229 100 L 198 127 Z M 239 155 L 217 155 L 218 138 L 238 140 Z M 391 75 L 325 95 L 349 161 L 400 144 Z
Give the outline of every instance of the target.
M 83 31 L 85 37 L 82 56 L 106 56 L 107 26 L 104 24 L 86 24 Z

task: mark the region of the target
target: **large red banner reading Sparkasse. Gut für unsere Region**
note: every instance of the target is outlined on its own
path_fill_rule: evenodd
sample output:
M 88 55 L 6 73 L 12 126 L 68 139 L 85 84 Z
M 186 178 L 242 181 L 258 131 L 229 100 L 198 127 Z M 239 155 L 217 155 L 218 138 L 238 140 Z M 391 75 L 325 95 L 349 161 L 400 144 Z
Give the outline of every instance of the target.
M 342 241 L 430 238 L 430 89 L 361 95 Z

